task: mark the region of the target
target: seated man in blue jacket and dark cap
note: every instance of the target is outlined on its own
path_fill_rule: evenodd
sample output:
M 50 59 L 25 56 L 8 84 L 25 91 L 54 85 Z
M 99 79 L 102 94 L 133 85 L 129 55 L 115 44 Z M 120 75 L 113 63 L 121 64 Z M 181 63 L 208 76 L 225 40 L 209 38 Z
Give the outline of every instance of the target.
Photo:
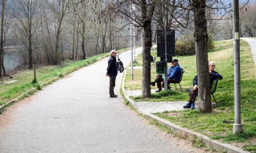
M 169 84 L 170 83 L 176 83 L 180 80 L 181 74 L 182 74 L 182 68 L 179 66 L 179 61 L 174 59 L 171 63 L 171 66 L 168 68 L 168 89 L 170 89 Z M 163 82 L 162 86 L 161 83 Z M 155 78 L 155 81 L 151 83 L 152 86 L 155 86 L 155 83 L 157 83 L 158 90 L 155 92 L 162 91 L 162 87 L 165 87 L 165 83 L 163 81 L 162 75 L 158 74 Z

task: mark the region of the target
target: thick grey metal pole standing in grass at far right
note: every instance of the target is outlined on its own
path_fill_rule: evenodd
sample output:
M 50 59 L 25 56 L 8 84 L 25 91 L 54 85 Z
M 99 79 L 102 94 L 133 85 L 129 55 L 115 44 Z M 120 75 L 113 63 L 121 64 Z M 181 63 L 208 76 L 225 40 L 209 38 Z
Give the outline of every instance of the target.
M 241 88 L 240 88 L 240 38 L 239 38 L 239 2 L 233 0 L 233 41 L 234 41 L 234 87 L 235 87 L 235 123 L 233 134 L 243 132 L 241 124 Z

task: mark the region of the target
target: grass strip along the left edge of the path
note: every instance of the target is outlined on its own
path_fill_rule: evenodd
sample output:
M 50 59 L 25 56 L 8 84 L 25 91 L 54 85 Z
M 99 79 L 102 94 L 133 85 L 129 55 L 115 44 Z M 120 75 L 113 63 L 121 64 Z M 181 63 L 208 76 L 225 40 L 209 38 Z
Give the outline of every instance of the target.
M 117 50 L 117 52 L 123 52 L 124 50 L 127 49 Z M 74 72 L 74 70 L 92 64 L 107 56 L 109 56 L 109 53 L 102 53 L 82 61 L 66 60 L 59 66 L 38 67 L 36 70 L 37 82 L 41 84 L 55 77 L 65 77 L 68 73 Z M 9 78 L 0 81 L 0 105 L 4 105 L 7 101 L 13 100 L 19 95 L 28 92 L 35 86 L 35 84 L 32 84 L 34 70 L 19 70 L 12 77 L 12 79 Z M 16 80 L 16 82 L 6 83 L 13 80 Z

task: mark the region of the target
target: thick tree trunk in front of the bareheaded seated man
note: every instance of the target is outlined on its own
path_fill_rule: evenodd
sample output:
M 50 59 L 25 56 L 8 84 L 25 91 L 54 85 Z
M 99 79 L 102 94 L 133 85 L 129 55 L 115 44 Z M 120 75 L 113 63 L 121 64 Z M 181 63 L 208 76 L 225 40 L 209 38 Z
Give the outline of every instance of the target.
M 205 0 L 196 0 L 194 7 L 194 41 L 196 49 L 196 65 L 198 77 L 199 110 L 203 113 L 212 112 L 210 102 L 210 76 L 207 54 L 207 21 L 205 18 Z

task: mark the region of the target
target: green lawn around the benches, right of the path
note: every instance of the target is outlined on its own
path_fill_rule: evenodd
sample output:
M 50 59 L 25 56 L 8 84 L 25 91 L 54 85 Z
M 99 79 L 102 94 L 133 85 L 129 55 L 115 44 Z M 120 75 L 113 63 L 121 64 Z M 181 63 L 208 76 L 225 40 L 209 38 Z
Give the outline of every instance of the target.
M 233 145 L 244 148 L 246 151 L 256 152 L 256 75 L 255 65 L 251 55 L 249 45 L 241 40 L 240 47 L 241 56 L 241 120 L 244 127 L 243 134 L 233 135 L 234 123 L 234 83 L 233 83 L 233 40 L 216 41 L 215 49 L 208 52 L 208 60 L 215 61 L 215 70 L 219 72 L 223 79 L 219 81 L 215 92 L 215 98 L 218 101 L 219 107 L 213 109 L 212 114 L 200 114 L 198 110 L 184 110 L 174 112 L 157 113 L 160 118 L 171 121 L 182 127 L 187 127 L 193 131 L 207 135 L 213 140 L 231 143 Z M 185 70 L 181 86 L 183 89 L 192 87 L 192 80 L 196 75 L 196 60 L 195 56 L 176 56 L 180 66 Z M 142 70 L 141 70 L 142 71 Z M 136 73 L 142 73 L 136 71 Z M 155 71 L 152 69 L 151 81 L 155 77 Z M 136 78 L 136 83 L 133 86 L 129 85 L 129 73 L 127 73 L 127 90 L 136 87 L 141 89 L 141 78 Z M 179 89 L 178 89 L 179 90 Z M 166 91 L 168 92 L 168 91 Z M 171 94 L 174 92 L 174 94 Z M 132 97 L 136 101 L 183 101 L 188 100 L 187 93 L 179 91 L 169 91 L 162 95 L 161 92 L 154 94 L 152 98 Z M 176 94 L 175 94 L 176 93 Z M 181 94 L 180 94 L 181 93 Z M 185 94 L 187 98 L 183 98 Z M 157 96 L 155 96 L 157 95 Z M 155 98 L 157 97 L 157 98 Z M 180 98 L 182 97 L 182 98 Z

